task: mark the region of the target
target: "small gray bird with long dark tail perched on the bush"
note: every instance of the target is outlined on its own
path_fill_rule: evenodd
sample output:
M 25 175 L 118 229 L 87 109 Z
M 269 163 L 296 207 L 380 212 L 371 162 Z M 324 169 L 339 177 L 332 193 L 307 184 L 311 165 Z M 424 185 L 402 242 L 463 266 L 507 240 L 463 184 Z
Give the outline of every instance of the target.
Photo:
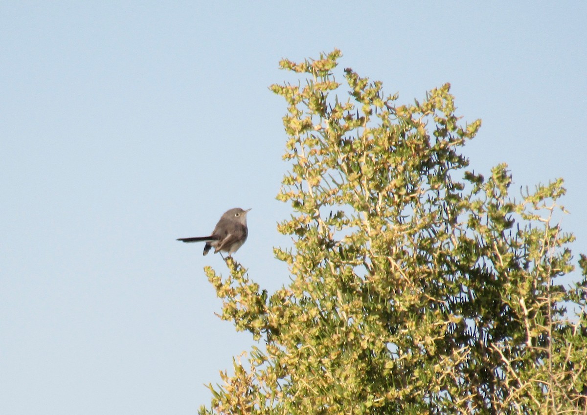
M 180 238 L 178 241 L 204 242 L 204 255 L 214 247 L 214 253 L 224 251 L 228 256 L 234 254 L 245 243 L 248 236 L 247 212 L 251 209 L 242 210 L 234 208 L 224 212 L 214 231 L 210 236 L 195 236 L 193 238 Z M 220 252 L 222 256 L 222 252 Z

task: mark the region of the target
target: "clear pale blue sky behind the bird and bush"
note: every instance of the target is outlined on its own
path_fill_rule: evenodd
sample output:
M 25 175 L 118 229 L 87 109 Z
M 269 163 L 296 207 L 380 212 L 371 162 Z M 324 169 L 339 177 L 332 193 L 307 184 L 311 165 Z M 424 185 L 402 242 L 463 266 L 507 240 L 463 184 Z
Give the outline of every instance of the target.
M 252 208 L 235 258 L 288 283 L 281 57 L 338 47 L 400 103 L 452 85 L 476 172 L 565 178 L 587 252 L 587 3 L 3 1 L 0 413 L 194 414 L 248 349 L 220 256 L 177 237 Z

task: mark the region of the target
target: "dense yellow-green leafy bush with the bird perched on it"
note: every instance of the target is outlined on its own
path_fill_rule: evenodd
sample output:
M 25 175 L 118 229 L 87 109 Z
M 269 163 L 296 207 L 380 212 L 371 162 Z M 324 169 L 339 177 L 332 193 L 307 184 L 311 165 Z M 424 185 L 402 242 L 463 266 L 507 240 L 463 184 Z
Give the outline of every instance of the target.
M 260 345 L 200 413 L 587 413 L 587 258 L 562 287 L 562 180 L 516 200 L 507 166 L 467 170 L 481 121 L 460 123 L 450 85 L 399 105 L 351 69 L 336 81 L 340 56 L 282 60 L 302 81 L 271 87 L 292 281 L 269 295 L 231 259 L 207 268 L 222 318 Z

